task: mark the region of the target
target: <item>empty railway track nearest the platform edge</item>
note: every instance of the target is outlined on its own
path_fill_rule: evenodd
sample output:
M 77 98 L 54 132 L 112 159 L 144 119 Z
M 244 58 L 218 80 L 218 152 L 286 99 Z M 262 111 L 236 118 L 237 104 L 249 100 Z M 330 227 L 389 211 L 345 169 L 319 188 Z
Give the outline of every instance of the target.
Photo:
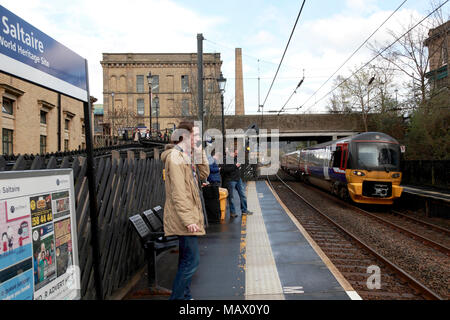
M 291 211 L 296 218 L 363 299 L 442 300 L 439 294 L 322 212 L 299 195 L 278 175 L 276 177 L 283 188 L 296 196 L 296 201 L 290 200 L 291 203 L 286 203 L 286 205 L 292 207 Z M 277 191 L 268 177 L 267 180 Z M 280 194 L 280 196 L 282 195 Z M 285 199 L 286 197 L 284 194 Z M 383 283 L 381 289 L 369 288 L 367 279 L 370 274 L 367 273 L 367 266 L 380 268 Z

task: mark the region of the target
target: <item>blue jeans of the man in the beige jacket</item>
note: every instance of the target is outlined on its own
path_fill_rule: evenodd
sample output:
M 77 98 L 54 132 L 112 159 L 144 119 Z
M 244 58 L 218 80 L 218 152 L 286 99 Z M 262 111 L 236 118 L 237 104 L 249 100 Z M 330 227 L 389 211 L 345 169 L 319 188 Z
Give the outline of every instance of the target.
M 190 300 L 191 279 L 200 262 L 197 236 L 178 236 L 178 271 L 169 300 Z

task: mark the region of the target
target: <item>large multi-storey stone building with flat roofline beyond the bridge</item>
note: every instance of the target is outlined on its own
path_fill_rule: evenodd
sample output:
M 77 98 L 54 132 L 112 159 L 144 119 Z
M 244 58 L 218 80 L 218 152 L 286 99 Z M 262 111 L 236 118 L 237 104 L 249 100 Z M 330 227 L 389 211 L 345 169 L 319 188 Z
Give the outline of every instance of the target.
M 172 129 L 180 119 L 197 119 L 196 53 L 104 53 L 103 125 L 109 134 L 121 136 L 124 129 L 150 128 L 152 75 L 153 129 Z M 204 127 L 214 127 L 221 115 L 219 53 L 203 54 Z

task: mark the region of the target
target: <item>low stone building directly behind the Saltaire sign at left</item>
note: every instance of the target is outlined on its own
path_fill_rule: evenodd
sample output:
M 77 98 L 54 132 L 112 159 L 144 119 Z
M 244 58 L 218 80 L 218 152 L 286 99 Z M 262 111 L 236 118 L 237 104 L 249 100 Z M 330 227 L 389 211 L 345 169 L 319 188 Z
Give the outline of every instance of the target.
M 2 154 L 85 148 L 81 101 L 3 72 L 0 72 L 0 97 Z

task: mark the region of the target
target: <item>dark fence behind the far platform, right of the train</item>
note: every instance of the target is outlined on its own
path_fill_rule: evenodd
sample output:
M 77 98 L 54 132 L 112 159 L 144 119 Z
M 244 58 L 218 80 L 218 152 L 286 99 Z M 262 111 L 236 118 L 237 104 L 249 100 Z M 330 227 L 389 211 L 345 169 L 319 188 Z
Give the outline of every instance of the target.
M 402 184 L 450 190 L 450 160 L 402 161 Z

